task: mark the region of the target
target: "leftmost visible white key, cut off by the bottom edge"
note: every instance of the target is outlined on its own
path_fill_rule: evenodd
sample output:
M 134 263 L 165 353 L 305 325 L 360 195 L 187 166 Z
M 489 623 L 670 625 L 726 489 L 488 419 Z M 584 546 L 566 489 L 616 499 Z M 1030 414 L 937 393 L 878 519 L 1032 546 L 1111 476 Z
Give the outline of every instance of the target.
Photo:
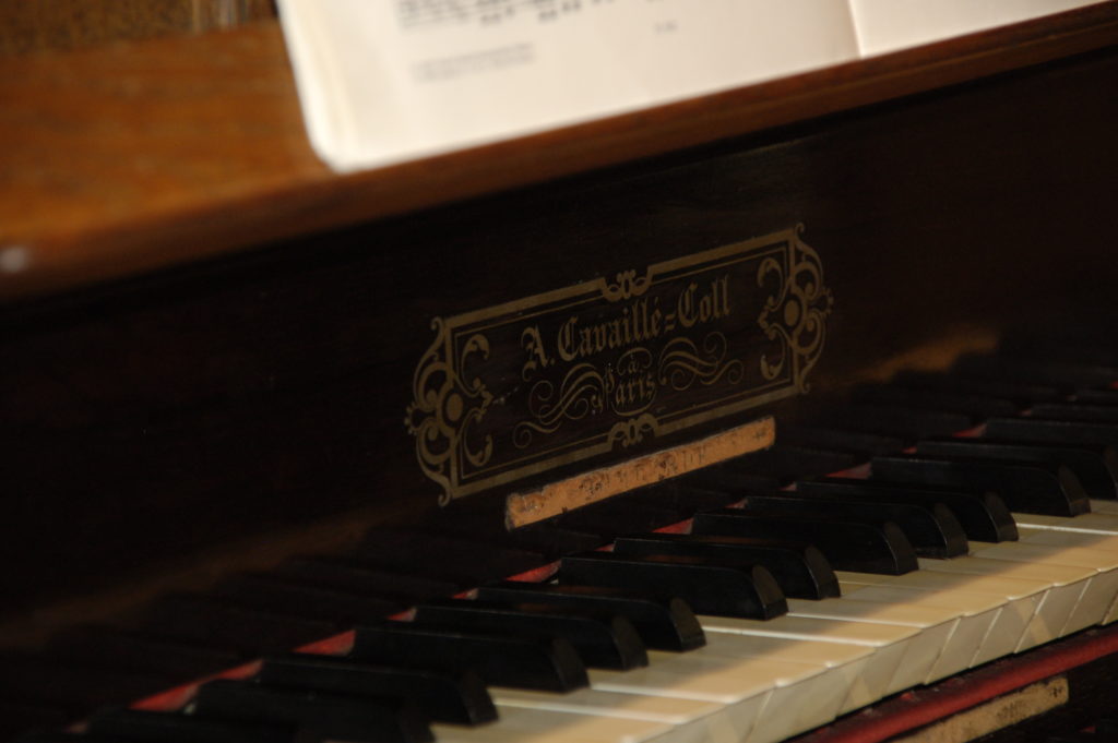
M 498 705 L 496 722 L 477 727 L 432 725 L 439 743 L 699 743 L 673 725 L 646 720 L 579 715 Z

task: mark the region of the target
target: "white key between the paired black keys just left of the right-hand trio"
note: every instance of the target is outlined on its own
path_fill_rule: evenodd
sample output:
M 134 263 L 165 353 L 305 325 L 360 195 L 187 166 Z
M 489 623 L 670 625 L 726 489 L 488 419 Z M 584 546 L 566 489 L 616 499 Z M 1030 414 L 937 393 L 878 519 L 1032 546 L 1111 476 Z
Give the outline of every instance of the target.
M 929 655 L 932 656 L 927 674 L 920 679 L 922 684 L 930 684 L 969 667 L 970 659 L 985 636 L 985 632 L 970 631 L 973 628 L 969 625 L 964 626 L 963 629 L 966 631 L 960 632 L 960 615 L 951 609 L 929 604 L 882 603 L 856 594 L 823 601 L 790 599 L 788 613 L 796 617 L 845 619 L 919 628 L 921 640 L 926 642 Z M 898 683 L 902 680 L 899 679 Z

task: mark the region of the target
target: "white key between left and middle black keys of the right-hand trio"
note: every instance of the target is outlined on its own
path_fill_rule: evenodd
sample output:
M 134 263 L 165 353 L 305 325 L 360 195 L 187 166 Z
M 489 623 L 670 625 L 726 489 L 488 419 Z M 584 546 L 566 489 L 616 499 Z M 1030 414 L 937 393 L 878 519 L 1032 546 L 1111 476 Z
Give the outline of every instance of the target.
M 1036 581 L 1040 584 L 1046 585 L 1048 591 L 1036 612 L 1038 617 L 1043 618 L 1045 631 L 1051 630 L 1051 636 L 1045 635 L 1045 639 L 1038 635 L 1035 638 L 1039 640 L 1038 642 L 1031 642 L 1030 638 L 1024 638 L 1022 640 L 1024 645 L 1017 648 L 1018 652 L 1033 647 L 1033 645 L 1062 637 L 1063 629 L 1079 604 L 1083 591 L 1097 575 L 1097 572 L 1090 568 L 1021 563 L 983 558 L 956 558 L 955 560 L 921 559 L 919 562 L 920 568 L 928 571 L 984 575 L 994 579 L 1017 578 Z

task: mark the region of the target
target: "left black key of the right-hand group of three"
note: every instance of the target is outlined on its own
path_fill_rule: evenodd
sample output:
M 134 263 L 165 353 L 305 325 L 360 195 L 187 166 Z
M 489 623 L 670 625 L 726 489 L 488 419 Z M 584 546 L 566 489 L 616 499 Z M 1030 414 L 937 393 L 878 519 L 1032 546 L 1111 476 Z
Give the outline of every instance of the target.
M 892 522 L 869 524 L 839 520 L 797 518 L 787 514 L 723 508 L 698 514 L 694 534 L 809 542 L 835 570 L 901 575 L 917 569 L 916 551 Z

